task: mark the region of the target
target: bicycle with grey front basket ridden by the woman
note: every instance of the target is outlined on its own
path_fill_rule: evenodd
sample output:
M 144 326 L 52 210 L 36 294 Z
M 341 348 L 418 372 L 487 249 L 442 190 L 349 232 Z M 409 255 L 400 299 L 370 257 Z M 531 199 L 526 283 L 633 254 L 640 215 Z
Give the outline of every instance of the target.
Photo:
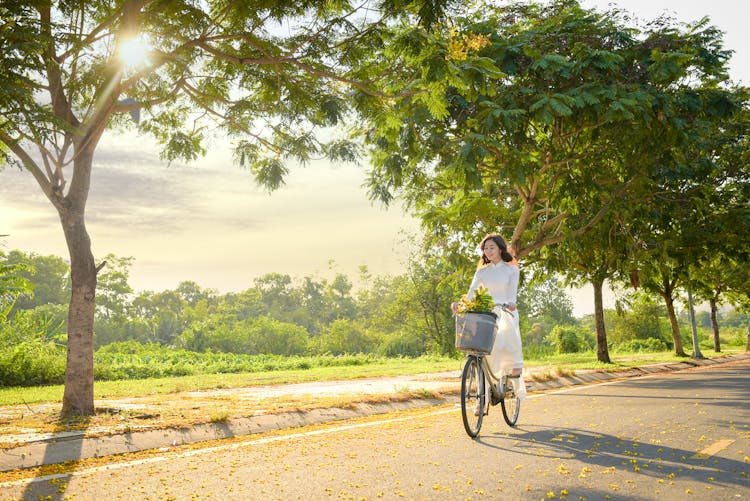
M 496 306 L 510 312 L 507 305 Z M 461 416 L 466 433 L 471 438 L 479 435 L 490 406 L 501 404 L 508 426 L 516 425 L 521 410 L 521 399 L 511 383 L 511 379 L 519 376 L 502 374 L 497 377 L 485 357 L 492 351 L 495 342 L 496 318 L 494 313 L 466 312 L 456 315 L 456 347 L 466 354 L 461 374 Z M 490 383 L 489 399 L 487 381 Z

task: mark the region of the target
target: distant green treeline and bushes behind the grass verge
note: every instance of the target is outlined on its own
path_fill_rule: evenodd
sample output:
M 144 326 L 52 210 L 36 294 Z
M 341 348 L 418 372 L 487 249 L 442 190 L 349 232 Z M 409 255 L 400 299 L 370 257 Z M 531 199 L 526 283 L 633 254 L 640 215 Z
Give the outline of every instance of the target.
M 271 273 L 242 292 L 220 294 L 192 281 L 174 290 L 134 292 L 128 283 L 133 259 L 105 260 L 94 337 L 98 379 L 457 355 L 449 304 L 465 293 L 474 269 L 468 260 L 461 266 L 435 261 L 415 263 L 403 275 L 374 277 L 362 266 L 357 290 L 341 273 L 331 280 Z M 18 250 L 0 253 L 0 263 L 0 386 L 62 382 L 67 263 Z M 557 281 L 521 289 L 527 357 L 595 347 L 593 319 L 574 318 L 572 301 Z M 721 320 L 724 342 L 744 346 L 748 315 L 732 310 Z M 607 310 L 606 322 L 613 350 L 671 348 L 664 307 L 642 293 L 631 294 L 626 309 Z M 685 314 L 680 322 L 689 346 Z M 707 312 L 698 314 L 698 325 L 703 348 L 710 348 Z

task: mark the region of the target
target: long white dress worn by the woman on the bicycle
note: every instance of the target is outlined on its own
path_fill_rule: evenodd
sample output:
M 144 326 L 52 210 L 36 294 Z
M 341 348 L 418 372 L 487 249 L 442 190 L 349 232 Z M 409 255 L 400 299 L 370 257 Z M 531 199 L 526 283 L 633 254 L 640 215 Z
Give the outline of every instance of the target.
M 496 304 L 516 303 L 518 294 L 518 266 L 500 261 L 479 268 L 469 286 L 466 298 L 471 301 L 480 286 L 484 286 Z M 497 336 L 492 352 L 487 356 L 490 370 L 500 377 L 509 374 L 513 369 L 523 369 L 523 351 L 521 348 L 521 330 L 518 325 L 518 310 L 506 312 L 495 308 L 497 314 Z M 523 376 L 511 379 L 516 395 L 526 397 L 526 385 Z

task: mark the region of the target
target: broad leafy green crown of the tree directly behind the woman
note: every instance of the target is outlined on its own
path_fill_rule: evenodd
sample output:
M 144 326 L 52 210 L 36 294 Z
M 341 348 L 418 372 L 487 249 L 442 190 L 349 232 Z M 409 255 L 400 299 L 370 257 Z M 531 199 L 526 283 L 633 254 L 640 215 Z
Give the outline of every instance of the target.
M 730 53 L 707 19 L 641 28 L 573 0 L 485 7 L 396 39 L 390 50 L 431 93 L 369 122 L 371 196 L 406 200 L 435 241 L 469 252 L 507 232 L 519 258 L 544 267 L 540 250 L 644 202 L 655 169 L 688 179 L 681 147 L 697 151 L 741 102 L 719 85 Z

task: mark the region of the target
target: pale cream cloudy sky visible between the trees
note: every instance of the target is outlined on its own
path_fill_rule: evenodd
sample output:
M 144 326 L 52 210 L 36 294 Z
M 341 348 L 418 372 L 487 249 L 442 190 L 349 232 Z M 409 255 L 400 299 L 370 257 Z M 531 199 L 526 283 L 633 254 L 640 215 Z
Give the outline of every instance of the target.
M 750 85 L 750 3 L 740 0 L 584 0 L 617 6 L 640 19 L 668 13 L 681 21 L 709 16 L 735 51 L 730 76 Z M 236 166 L 229 143 L 215 140 L 206 157 L 188 164 L 159 160 L 154 141 L 136 133 L 105 134 L 94 158 L 86 210 L 94 255 L 135 258 L 136 291 L 174 289 L 192 280 L 221 293 L 241 291 L 266 273 L 356 282 L 366 265 L 374 275 L 403 273 L 419 223 L 399 205 L 373 205 L 362 187 L 366 165 L 318 161 L 291 166 L 286 186 L 268 194 Z M 0 171 L 3 250 L 20 249 L 67 260 L 57 213 L 28 172 Z M 593 311 L 590 287 L 571 290 L 574 313 Z M 612 294 L 605 297 L 611 304 Z

